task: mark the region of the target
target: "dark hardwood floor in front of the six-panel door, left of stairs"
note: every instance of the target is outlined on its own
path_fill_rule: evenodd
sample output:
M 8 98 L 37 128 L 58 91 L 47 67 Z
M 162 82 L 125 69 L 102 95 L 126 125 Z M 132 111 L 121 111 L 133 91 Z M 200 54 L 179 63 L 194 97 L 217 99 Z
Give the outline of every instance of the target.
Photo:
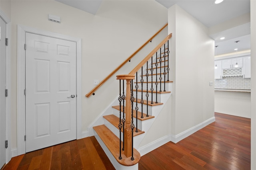
M 86 137 L 13 157 L 3 170 L 114 170 L 96 138 Z

